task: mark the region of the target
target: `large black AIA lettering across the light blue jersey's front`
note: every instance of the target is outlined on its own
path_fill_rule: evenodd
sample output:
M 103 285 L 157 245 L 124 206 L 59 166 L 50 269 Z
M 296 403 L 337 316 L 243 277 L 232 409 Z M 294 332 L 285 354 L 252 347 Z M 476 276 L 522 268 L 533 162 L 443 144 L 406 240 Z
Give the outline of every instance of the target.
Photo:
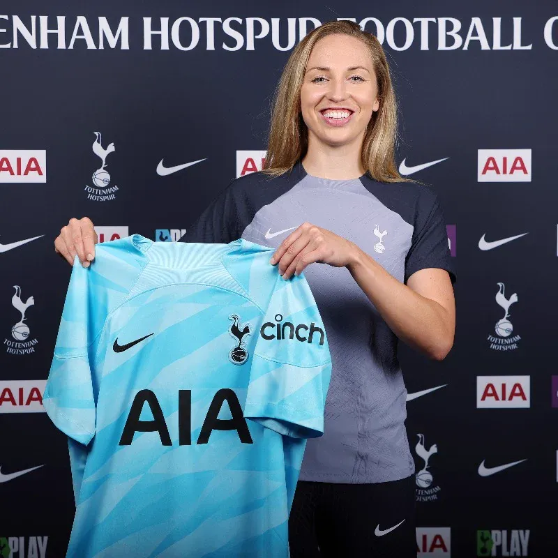
M 217 418 L 225 401 L 227 401 L 232 418 Z M 145 403 L 151 409 L 151 415 L 153 416 L 151 421 L 140 420 Z M 190 389 L 179 390 L 178 421 L 179 446 L 192 445 L 192 432 L 190 430 L 192 425 L 192 391 Z M 236 430 L 242 444 L 254 443 L 252 442 L 239 398 L 236 397 L 236 393 L 232 389 L 220 389 L 213 396 L 202 429 L 199 431 L 196 444 L 207 444 L 213 430 Z M 155 393 L 149 389 L 142 389 L 142 391 L 136 393 L 118 445 L 130 446 L 135 432 L 158 432 L 161 444 L 163 446 L 172 446 L 163 409 L 161 409 Z

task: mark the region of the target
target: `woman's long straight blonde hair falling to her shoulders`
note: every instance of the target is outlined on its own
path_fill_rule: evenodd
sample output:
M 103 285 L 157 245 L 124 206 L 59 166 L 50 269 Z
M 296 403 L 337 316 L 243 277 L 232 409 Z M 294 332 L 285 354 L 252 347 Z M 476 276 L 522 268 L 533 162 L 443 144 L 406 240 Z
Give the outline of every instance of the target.
M 308 150 L 308 128 L 301 112 L 301 88 L 310 52 L 316 43 L 328 35 L 342 34 L 361 40 L 370 50 L 377 77 L 379 110 L 372 113 L 361 151 L 363 167 L 373 179 L 381 182 L 402 182 L 395 165 L 397 138 L 397 102 L 391 85 L 389 66 L 382 45 L 372 33 L 349 21 L 327 22 L 317 27 L 296 45 L 285 65 L 273 97 L 266 174 L 278 175 L 289 171 Z

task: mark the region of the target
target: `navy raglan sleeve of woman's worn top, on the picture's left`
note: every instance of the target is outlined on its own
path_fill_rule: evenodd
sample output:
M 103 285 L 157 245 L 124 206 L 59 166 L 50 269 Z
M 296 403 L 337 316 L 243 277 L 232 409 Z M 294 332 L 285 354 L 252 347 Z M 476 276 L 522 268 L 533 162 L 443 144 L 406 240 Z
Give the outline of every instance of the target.
M 262 206 L 287 192 L 306 176 L 301 163 L 280 176 L 252 172 L 232 180 L 186 229 L 181 242 L 228 244 L 239 239 Z

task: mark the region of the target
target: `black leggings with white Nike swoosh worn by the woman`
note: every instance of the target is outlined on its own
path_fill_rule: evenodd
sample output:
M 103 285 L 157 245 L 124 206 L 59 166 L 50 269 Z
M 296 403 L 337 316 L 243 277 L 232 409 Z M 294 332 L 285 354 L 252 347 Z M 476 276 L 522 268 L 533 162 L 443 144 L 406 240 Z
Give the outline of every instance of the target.
M 416 558 L 415 488 L 414 475 L 375 484 L 299 481 L 291 558 Z

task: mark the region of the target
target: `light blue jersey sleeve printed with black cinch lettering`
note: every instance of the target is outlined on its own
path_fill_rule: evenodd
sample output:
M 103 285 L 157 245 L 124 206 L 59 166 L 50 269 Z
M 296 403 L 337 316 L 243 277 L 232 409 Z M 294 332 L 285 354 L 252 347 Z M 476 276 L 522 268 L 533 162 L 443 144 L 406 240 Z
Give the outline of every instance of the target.
M 244 416 L 289 437 L 319 437 L 331 378 L 324 324 L 304 274 L 284 280 L 267 267 L 275 285 L 255 332 Z

